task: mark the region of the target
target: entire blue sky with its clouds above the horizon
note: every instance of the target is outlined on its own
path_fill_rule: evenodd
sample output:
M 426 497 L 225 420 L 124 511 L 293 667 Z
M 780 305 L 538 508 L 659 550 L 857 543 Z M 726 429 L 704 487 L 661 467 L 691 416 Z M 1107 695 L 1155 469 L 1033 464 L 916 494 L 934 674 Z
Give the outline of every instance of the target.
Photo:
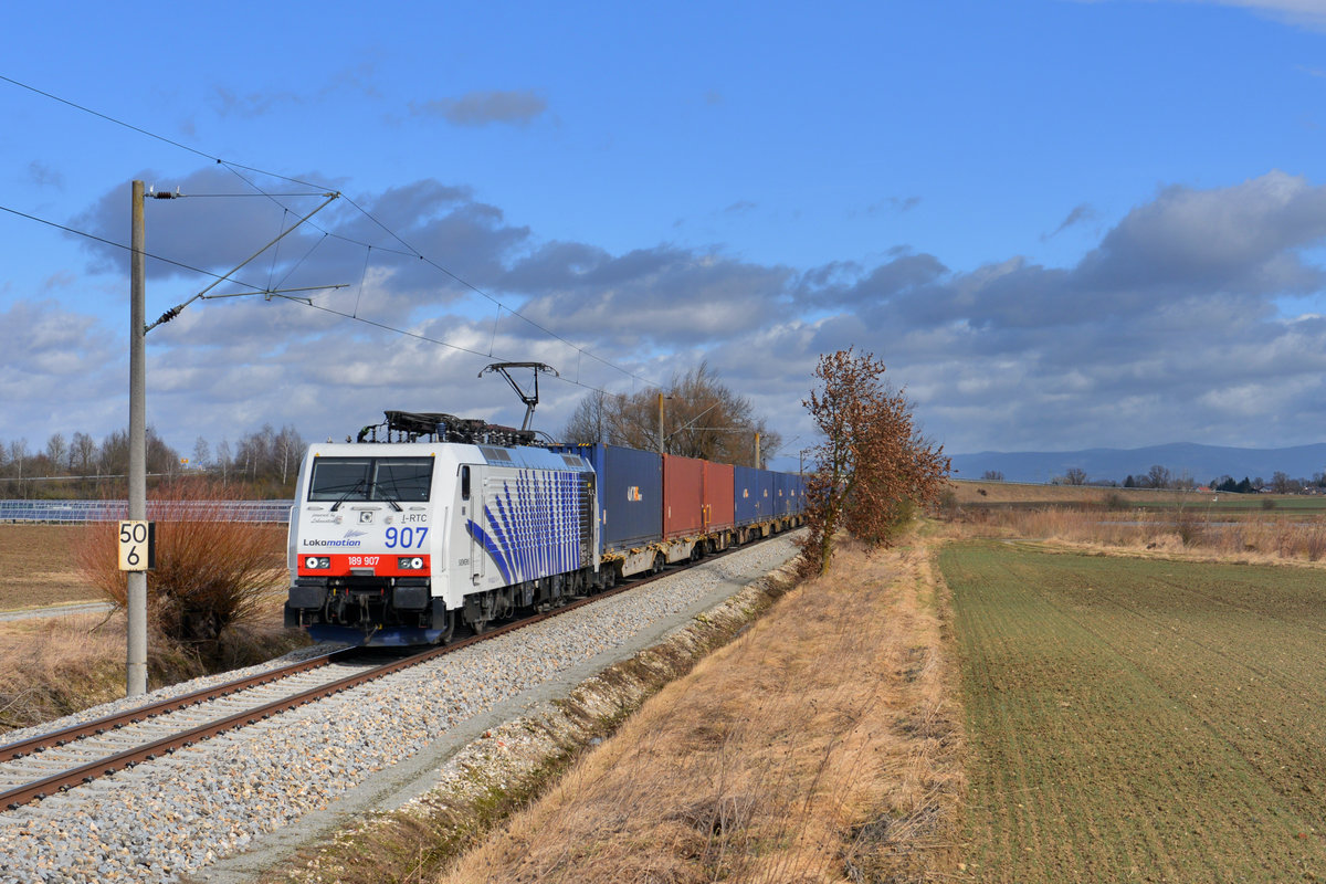
M 149 335 L 149 420 L 186 452 L 383 408 L 517 421 L 489 351 L 579 382 L 545 384 L 549 429 L 707 359 L 794 449 L 849 345 L 951 452 L 1326 436 L 1319 0 L 8 20 L 0 76 L 158 138 L 0 82 L 0 205 L 126 243 L 130 180 L 180 187 L 149 252 L 224 273 L 321 201 L 260 190 L 337 190 L 237 278 L 345 284 L 314 304 L 479 353 L 196 302 Z M 0 440 L 122 427 L 125 252 L 11 212 L 0 237 Z M 152 261 L 149 313 L 211 281 Z

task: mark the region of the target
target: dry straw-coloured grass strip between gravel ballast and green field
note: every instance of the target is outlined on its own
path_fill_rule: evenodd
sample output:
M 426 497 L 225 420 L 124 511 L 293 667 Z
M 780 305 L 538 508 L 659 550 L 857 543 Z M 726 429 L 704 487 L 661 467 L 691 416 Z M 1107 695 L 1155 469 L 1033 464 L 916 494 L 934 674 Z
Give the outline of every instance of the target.
M 939 611 L 923 553 L 845 547 L 438 880 L 906 881 L 949 868 L 961 738 Z

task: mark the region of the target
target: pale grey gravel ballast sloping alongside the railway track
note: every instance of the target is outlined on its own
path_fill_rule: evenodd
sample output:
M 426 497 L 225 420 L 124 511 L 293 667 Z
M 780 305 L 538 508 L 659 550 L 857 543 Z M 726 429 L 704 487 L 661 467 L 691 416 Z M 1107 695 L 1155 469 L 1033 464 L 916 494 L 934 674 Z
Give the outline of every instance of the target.
M 789 537 L 774 538 L 3 812 L 0 881 L 206 877 L 203 869 L 220 857 L 260 840 L 280 842 L 268 834 L 294 831 L 288 827 L 325 814 L 350 794 L 365 797 L 363 806 L 374 807 L 387 797 L 375 785 L 390 782 L 385 789 L 396 795 L 408 789 L 402 777 L 427 779 L 427 767 L 444 759 L 438 753 L 459 749 L 447 749 L 448 734 L 460 740 L 476 728 L 500 724 L 493 716 L 503 704 L 533 697 L 552 683 L 587 677 L 591 667 L 630 656 L 640 641 L 656 640 L 720 602 L 717 591 L 740 590 L 793 553 Z M 212 680 L 233 677 L 228 673 Z M 178 693 L 198 684 L 167 691 Z M 107 704 L 80 718 L 126 705 L 133 704 Z M 21 736 L 8 734 L 7 742 Z

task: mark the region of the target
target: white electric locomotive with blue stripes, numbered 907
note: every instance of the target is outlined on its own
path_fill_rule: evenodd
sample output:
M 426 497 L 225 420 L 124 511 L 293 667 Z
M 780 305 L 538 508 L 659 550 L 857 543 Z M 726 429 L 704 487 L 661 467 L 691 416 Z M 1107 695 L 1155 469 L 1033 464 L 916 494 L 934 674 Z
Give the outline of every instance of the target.
M 602 586 L 594 469 L 533 435 L 386 412 L 309 447 L 290 510 L 285 623 L 314 639 L 447 641 Z M 377 441 L 383 431 L 385 441 Z

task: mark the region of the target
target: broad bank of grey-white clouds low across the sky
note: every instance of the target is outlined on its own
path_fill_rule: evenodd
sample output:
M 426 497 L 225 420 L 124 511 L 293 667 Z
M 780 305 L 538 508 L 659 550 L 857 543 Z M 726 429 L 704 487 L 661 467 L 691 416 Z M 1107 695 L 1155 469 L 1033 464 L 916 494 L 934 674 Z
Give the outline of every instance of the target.
M 149 414 L 166 439 L 190 448 L 202 435 L 215 445 L 263 423 L 343 437 L 386 408 L 518 423 L 522 408 L 505 384 L 476 378 L 488 354 L 546 362 L 566 382 L 622 392 L 640 388 L 633 374 L 667 380 L 708 359 L 774 429 L 809 439 L 801 400 L 810 370 L 821 353 L 846 346 L 883 359 L 927 432 L 955 452 L 1284 445 L 1326 431 L 1326 319 L 1280 313 L 1289 296 L 1326 285 L 1305 257 L 1326 240 L 1326 188 L 1281 172 L 1162 188 L 1063 268 L 1012 256 L 953 269 L 907 248 L 874 265 L 849 258 L 809 269 L 670 245 L 613 254 L 540 241 L 468 190 L 436 182 L 357 201 L 390 215 L 430 258 L 457 261 L 508 309 L 499 315 L 416 257 L 375 249 L 365 272 L 363 247 L 318 249 L 304 261 L 313 277 L 354 282 L 317 304 L 475 353 L 288 301 L 196 304 L 149 338 Z M 249 209 L 235 212 L 216 233 L 239 249 L 253 221 Z M 88 216 L 101 217 L 101 204 Z M 325 229 L 357 239 L 369 227 L 341 212 Z M 178 231 L 156 243 L 196 249 Z M 282 253 L 277 276 L 301 260 Z M 103 262 L 95 253 L 81 278 L 98 280 Z M 80 288 L 88 284 L 50 284 Z M 21 419 L 11 416 L 0 439 L 122 427 L 119 323 L 107 327 L 72 301 L 11 304 L 0 314 L 0 395 Z M 538 425 L 556 431 L 585 390 L 544 383 Z

